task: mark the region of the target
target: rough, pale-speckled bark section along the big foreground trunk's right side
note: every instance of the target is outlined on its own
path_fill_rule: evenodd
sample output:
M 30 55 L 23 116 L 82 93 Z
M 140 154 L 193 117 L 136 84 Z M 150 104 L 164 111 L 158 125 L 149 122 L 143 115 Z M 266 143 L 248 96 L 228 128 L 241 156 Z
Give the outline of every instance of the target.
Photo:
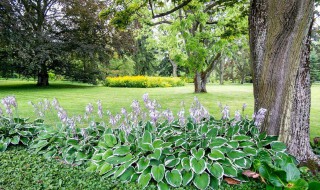
M 291 125 L 289 135 L 283 128 L 280 129 L 279 139 L 286 142 L 288 152 L 298 160 L 319 159 L 313 153 L 310 146 L 310 45 L 311 45 L 312 23 L 309 26 L 309 34 L 305 39 L 305 47 L 301 52 L 300 67 L 295 80 L 293 105 L 291 111 Z

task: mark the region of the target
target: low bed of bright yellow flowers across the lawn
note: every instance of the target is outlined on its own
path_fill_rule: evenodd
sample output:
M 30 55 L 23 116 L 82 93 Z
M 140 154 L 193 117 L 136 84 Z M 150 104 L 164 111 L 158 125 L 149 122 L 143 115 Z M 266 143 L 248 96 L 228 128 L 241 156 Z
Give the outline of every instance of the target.
M 174 87 L 183 86 L 184 81 L 177 77 L 123 76 L 107 77 L 105 85 L 131 88 Z

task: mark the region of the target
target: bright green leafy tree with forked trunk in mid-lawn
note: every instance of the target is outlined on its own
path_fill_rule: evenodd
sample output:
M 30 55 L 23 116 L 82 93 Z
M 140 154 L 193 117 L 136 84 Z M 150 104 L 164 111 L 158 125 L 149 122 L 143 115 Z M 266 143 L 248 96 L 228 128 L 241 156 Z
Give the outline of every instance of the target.
M 170 33 L 176 30 L 179 33 L 176 37 L 184 40 L 184 53 L 188 57 L 186 66 L 194 74 L 195 92 L 199 93 L 207 91 L 208 77 L 221 56 L 217 48 L 219 41 L 247 31 L 246 24 L 243 25 L 242 22 L 246 22 L 246 15 L 242 14 L 247 7 L 245 2 L 247 1 L 176 0 L 163 3 L 159 0 L 109 0 L 109 8 L 101 12 L 100 16 L 111 17 L 111 23 L 120 28 L 130 27 L 135 19 L 151 26 L 171 25 Z M 231 11 L 228 8 L 233 9 Z M 226 14 L 228 19 L 222 19 L 227 18 Z

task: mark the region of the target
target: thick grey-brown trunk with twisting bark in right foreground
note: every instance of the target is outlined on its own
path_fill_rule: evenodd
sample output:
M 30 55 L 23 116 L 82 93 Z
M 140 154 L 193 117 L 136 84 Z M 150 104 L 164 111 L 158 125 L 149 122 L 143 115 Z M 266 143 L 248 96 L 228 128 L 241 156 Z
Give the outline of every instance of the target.
M 255 111 L 262 107 L 268 110 L 261 130 L 279 135 L 289 150 L 297 145 L 292 142 L 300 138 L 294 133 L 309 130 L 305 121 L 310 111 L 307 101 L 310 86 L 306 64 L 301 63 L 306 62 L 307 54 L 304 53 L 303 58 L 301 52 L 305 52 L 313 4 L 314 0 L 251 0 L 249 35 Z M 292 125 L 297 120 L 299 122 Z M 309 151 L 308 143 L 298 144 L 300 151 Z

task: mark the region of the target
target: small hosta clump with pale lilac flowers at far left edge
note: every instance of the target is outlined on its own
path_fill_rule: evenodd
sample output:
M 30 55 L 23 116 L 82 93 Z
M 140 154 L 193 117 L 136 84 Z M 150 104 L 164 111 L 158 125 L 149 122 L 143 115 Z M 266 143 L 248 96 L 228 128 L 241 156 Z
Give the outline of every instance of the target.
M 9 145 L 29 145 L 37 135 L 43 120 L 28 122 L 28 119 L 13 117 L 13 112 L 17 108 L 14 96 L 3 98 L 1 104 L 6 114 L 0 106 L 0 152 L 5 151 Z

